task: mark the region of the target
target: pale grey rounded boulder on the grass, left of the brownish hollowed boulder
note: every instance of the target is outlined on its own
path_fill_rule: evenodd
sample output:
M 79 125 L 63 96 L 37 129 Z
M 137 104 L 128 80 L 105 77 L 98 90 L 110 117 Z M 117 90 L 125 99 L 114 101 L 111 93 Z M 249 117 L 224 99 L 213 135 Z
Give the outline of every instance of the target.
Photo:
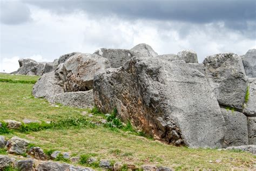
M 48 99 L 52 95 L 63 93 L 63 87 L 58 85 L 58 78 L 55 76 L 55 72 L 49 72 L 43 74 L 37 83 L 33 86 L 32 93 L 36 98 Z

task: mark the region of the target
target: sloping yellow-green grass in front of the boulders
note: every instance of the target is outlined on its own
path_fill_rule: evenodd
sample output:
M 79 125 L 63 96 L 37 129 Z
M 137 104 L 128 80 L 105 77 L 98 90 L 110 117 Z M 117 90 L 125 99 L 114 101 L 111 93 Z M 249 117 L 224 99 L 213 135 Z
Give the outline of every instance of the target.
M 8 74 L 0 74 L 0 80 L 1 78 L 38 79 L 38 77 Z M 51 105 L 44 99 L 35 99 L 31 94 L 32 87 L 33 84 L 0 82 L 0 120 L 55 121 L 68 117 L 84 117 L 89 121 L 99 121 L 104 118 L 101 114 L 95 114 L 92 117 L 82 115 L 84 111 L 88 111 L 85 109 Z M 104 126 L 70 126 L 28 133 L 12 131 L 4 134 L 7 138 L 14 135 L 28 139 L 44 150 L 57 149 L 70 152 L 73 156 L 93 155 L 97 159 L 122 161 L 137 166 L 168 166 L 176 170 L 253 169 L 256 167 L 256 158 L 250 153 L 175 147 L 134 135 L 123 129 L 111 129 Z

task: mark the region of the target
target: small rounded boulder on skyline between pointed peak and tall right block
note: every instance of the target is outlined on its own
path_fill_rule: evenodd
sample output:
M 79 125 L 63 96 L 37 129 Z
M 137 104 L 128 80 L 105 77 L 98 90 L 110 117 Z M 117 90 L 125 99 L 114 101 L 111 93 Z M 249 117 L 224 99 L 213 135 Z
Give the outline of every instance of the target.
M 197 53 L 192 50 L 178 52 L 177 59 L 184 60 L 186 63 L 198 63 Z

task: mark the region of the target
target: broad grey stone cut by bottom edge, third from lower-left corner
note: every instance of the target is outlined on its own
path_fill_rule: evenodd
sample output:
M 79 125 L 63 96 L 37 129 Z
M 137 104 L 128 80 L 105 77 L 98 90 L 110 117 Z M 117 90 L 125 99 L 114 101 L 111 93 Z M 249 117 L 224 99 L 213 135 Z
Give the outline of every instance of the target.
M 60 163 L 46 161 L 46 162 L 39 163 L 39 165 L 36 167 L 36 170 L 37 171 L 46 171 L 46 170 L 59 171 L 59 170 L 64 170 L 64 167 Z

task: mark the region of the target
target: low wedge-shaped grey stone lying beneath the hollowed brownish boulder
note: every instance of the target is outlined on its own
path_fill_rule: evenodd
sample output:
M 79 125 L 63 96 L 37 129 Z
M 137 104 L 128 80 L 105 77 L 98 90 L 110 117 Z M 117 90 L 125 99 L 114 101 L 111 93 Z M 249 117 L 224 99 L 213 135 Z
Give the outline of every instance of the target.
M 65 106 L 79 108 L 92 108 L 95 105 L 92 90 L 83 92 L 60 93 L 53 95 L 48 100 L 52 104 L 60 103 Z

